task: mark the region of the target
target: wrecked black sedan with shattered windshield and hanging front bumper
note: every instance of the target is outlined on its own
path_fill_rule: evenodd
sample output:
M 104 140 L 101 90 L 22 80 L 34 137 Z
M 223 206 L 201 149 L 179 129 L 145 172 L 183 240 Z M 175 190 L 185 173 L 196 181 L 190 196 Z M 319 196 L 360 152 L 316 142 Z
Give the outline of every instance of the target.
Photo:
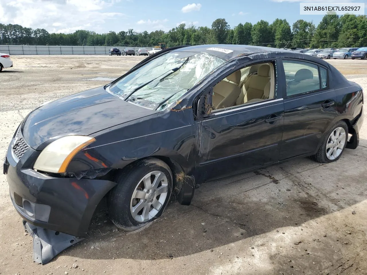
M 360 85 L 314 56 L 172 47 L 104 87 L 32 111 L 14 133 L 4 173 L 37 240 L 34 260 L 46 263 L 86 236 L 105 196 L 112 222 L 136 230 L 172 194 L 190 204 L 205 181 L 295 157 L 336 161 L 358 146 L 362 107 Z

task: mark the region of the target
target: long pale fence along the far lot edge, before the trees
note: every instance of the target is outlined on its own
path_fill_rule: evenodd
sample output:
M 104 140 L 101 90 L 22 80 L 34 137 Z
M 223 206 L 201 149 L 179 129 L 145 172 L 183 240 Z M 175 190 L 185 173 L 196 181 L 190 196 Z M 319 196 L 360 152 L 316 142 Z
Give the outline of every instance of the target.
M 0 45 L 0 52 L 2 54 L 108 54 L 108 50 L 113 47 L 107 46 L 32 46 L 32 45 Z M 125 47 L 116 47 L 121 51 Z M 134 48 L 135 52 L 138 51 L 139 48 L 146 48 L 148 51 L 150 47 L 128 47 Z

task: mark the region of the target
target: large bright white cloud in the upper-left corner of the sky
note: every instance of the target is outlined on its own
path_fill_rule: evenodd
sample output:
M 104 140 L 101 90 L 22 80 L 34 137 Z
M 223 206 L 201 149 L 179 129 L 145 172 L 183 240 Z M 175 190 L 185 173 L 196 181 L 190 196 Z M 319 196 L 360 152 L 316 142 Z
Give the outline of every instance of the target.
M 106 21 L 128 18 L 108 12 L 120 0 L 0 0 L 0 23 L 70 33 L 78 29 L 101 31 Z M 105 31 L 105 30 L 104 30 Z

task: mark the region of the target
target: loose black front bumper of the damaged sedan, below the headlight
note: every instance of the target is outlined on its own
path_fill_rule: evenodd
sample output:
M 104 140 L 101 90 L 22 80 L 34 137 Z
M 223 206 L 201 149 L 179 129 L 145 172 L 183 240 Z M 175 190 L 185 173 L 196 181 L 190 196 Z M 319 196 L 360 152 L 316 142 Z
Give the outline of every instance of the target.
M 99 179 L 58 178 L 34 171 L 39 152 L 29 147 L 15 161 L 8 148 L 4 173 L 10 198 L 29 224 L 85 237 L 95 208 L 116 183 Z

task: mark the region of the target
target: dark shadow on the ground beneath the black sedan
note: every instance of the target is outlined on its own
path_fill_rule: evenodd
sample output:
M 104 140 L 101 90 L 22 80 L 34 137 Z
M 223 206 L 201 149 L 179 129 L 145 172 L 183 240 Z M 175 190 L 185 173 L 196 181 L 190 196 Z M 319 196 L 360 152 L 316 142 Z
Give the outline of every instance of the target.
M 300 158 L 202 184 L 190 206 L 172 199 L 159 219 L 134 232 L 116 230 L 103 201 L 87 238 L 60 255 L 164 259 L 215 249 L 276 229 L 281 232 L 283 227 L 302 228 L 309 220 L 365 199 L 361 155 L 367 155 L 367 147 L 346 149 L 341 159 L 330 164 Z

